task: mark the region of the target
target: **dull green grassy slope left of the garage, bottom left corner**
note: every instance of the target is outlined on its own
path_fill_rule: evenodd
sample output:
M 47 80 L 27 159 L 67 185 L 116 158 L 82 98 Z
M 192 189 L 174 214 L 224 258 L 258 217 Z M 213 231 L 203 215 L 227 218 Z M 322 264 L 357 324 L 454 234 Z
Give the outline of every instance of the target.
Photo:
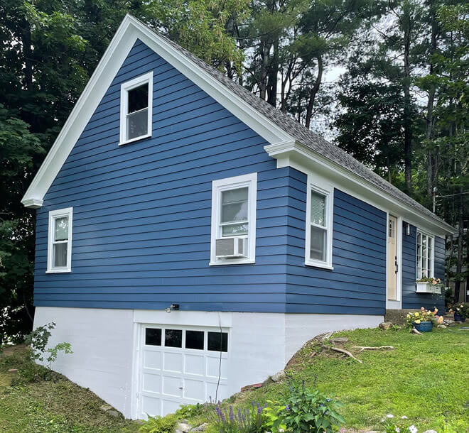
M 48 380 L 10 386 L 21 380 L 9 368 L 36 372 L 26 353 L 18 346 L 0 355 L 0 432 L 137 432 L 139 424 L 102 412 L 103 400 L 56 373 L 45 374 Z

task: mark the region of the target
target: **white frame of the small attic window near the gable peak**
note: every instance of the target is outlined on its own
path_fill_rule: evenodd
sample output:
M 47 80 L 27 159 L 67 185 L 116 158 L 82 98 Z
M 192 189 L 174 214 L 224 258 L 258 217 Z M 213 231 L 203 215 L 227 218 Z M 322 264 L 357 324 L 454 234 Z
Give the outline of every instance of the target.
M 148 84 L 149 86 L 149 101 L 148 101 L 148 120 L 147 120 L 147 131 L 143 136 L 126 139 L 127 136 L 127 110 L 129 109 L 129 98 L 127 94 L 130 90 L 135 89 L 136 87 L 141 86 L 142 84 Z M 121 84 L 121 121 L 120 121 L 120 137 L 119 137 L 119 146 L 123 144 L 132 143 L 133 141 L 141 140 L 143 138 L 151 137 L 151 120 L 153 113 L 153 71 L 148 72 L 147 74 L 136 77 L 133 80 L 124 82 Z

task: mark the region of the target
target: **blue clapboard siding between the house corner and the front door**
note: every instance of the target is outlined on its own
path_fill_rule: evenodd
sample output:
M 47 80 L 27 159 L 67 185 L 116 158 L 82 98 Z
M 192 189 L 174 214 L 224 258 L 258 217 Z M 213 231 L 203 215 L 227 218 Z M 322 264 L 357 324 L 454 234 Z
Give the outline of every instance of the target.
M 306 266 L 306 175 L 291 170 L 286 312 L 384 314 L 386 214 L 334 191 L 333 270 Z

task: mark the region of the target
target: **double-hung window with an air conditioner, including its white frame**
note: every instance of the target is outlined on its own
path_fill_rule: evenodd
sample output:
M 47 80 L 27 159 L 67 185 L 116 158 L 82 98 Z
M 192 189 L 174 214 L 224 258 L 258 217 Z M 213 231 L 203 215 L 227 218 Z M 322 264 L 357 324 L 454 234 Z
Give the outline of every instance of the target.
M 257 173 L 212 182 L 210 265 L 254 263 Z

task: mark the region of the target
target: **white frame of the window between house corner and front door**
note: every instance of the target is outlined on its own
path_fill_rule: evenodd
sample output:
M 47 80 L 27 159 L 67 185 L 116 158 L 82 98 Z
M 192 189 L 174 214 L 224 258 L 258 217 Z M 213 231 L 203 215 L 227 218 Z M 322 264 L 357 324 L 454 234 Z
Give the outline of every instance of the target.
M 327 248 L 325 261 L 314 260 L 310 256 L 311 250 L 311 192 L 317 192 L 325 197 L 325 227 L 318 226 L 325 229 L 325 245 Z M 333 189 L 325 187 L 318 187 L 313 183 L 308 182 L 308 196 L 306 197 L 306 245 L 305 245 L 305 265 L 314 266 L 316 268 L 324 268 L 333 270 L 332 264 L 332 248 L 333 248 L 333 209 L 334 209 L 334 194 Z

